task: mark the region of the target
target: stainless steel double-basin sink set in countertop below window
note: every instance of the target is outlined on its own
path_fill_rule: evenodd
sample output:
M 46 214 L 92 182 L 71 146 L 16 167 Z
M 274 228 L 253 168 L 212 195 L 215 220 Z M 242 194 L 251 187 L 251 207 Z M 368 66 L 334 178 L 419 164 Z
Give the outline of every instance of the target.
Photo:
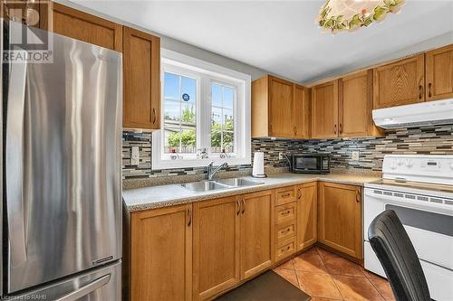
M 248 187 L 262 184 L 263 182 L 255 182 L 243 178 L 230 178 L 213 181 L 198 181 L 192 183 L 182 183 L 181 186 L 196 193 L 210 192 L 222 189 L 233 189 L 239 187 Z

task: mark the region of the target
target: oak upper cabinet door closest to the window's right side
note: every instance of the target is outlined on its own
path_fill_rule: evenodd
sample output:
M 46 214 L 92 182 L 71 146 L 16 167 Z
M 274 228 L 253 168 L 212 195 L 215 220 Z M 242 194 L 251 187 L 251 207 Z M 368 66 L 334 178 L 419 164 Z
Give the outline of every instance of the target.
M 293 83 L 269 76 L 269 136 L 294 136 Z

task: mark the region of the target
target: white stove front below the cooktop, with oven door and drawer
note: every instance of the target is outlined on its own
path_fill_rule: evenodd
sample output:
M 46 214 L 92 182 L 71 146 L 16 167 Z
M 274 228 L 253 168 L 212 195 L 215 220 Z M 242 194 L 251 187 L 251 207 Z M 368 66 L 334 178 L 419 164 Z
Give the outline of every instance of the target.
M 417 251 L 431 297 L 444 301 L 453 296 L 453 206 L 420 201 L 423 199 L 426 196 L 365 188 L 365 268 L 385 277 L 381 263 L 368 242 L 368 228 L 381 212 L 393 210 Z

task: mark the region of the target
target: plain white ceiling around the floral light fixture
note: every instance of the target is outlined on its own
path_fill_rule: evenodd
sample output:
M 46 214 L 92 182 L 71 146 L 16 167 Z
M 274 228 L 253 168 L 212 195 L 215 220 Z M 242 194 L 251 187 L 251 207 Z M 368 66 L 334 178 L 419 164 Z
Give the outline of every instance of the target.
M 408 0 L 381 24 L 334 36 L 314 24 L 323 1 L 75 2 L 299 82 L 453 31 L 451 0 Z

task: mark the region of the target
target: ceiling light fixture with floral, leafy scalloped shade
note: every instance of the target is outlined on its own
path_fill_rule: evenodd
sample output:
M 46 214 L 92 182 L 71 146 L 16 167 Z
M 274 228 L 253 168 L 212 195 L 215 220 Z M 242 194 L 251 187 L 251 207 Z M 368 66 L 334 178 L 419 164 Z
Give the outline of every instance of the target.
M 400 13 L 406 0 L 327 0 L 321 7 L 316 24 L 323 31 L 353 32 L 374 22 L 381 22 L 389 13 Z

